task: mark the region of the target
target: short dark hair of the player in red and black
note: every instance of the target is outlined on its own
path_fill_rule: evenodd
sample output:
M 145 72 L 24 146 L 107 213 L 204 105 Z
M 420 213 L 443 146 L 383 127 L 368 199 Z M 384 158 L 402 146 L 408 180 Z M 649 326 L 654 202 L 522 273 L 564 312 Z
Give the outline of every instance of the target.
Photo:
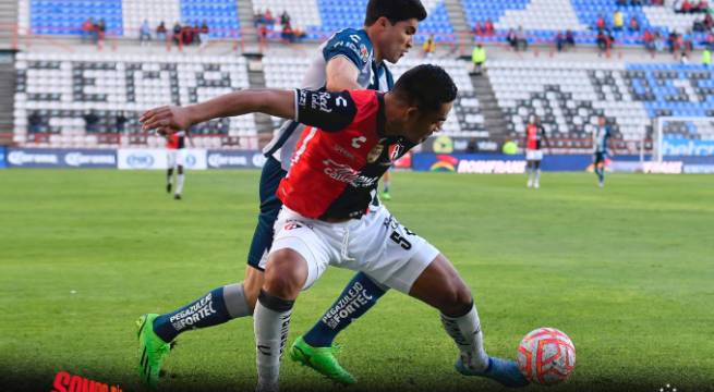
M 394 94 L 424 112 L 437 111 L 441 105 L 452 102 L 459 89 L 443 68 L 422 64 L 404 72 L 397 81 Z

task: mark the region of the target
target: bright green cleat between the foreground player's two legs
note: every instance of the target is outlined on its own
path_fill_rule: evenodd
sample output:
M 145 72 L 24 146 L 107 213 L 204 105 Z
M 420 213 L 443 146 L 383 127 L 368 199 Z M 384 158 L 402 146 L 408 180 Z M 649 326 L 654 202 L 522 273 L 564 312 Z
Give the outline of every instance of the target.
M 356 383 L 356 379 L 337 362 L 335 357 L 337 350 L 338 346 L 313 347 L 302 336 L 298 336 L 290 347 L 290 359 L 313 368 L 337 383 L 343 385 Z

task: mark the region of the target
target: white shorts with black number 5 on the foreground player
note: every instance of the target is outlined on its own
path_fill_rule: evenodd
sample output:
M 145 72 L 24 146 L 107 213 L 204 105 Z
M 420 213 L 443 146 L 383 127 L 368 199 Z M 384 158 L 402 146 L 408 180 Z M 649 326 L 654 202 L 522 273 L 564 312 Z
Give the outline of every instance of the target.
M 270 253 L 289 248 L 307 261 L 308 289 L 327 266 L 362 271 L 388 287 L 409 294 L 414 281 L 439 252 L 401 225 L 387 210 L 370 210 L 361 219 L 328 223 L 282 207 L 275 223 Z M 261 260 L 265 268 L 268 258 Z

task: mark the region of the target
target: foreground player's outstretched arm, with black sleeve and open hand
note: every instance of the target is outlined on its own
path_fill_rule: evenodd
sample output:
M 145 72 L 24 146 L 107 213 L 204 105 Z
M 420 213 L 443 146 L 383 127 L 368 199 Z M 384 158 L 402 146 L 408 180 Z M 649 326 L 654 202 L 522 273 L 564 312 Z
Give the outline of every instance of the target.
M 349 91 L 246 89 L 187 107 L 152 109 L 140 121 L 144 131 L 156 130 L 165 135 L 208 120 L 256 112 L 336 132 L 352 122 L 356 106 Z

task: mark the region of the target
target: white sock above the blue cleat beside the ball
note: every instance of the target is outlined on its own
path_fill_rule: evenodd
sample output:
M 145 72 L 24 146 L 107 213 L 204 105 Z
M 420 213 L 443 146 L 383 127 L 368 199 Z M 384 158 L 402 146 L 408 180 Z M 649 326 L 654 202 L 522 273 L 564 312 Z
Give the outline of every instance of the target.
M 441 324 L 461 351 L 463 364 L 474 370 L 485 370 L 488 355 L 483 347 L 483 332 L 475 305 L 460 317 L 441 315 Z

